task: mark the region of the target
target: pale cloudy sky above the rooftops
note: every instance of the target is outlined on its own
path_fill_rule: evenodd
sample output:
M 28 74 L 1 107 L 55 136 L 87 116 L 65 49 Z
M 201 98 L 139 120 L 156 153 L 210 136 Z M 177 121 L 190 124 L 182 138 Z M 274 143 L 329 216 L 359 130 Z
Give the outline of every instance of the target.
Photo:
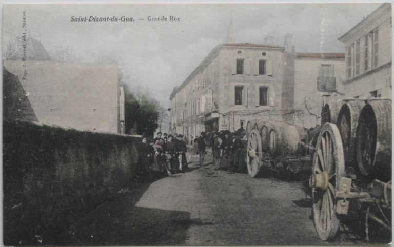
M 82 61 L 119 58 L 121 70 L 169 106 L 169 96 L 217 45 L 226 42 L 230 15 L 238 43 L 284 45 L 293 34 L 296 52 L 344 52 L 338 38 L 381 3 L 348 4 L 17 4 L 3 6 L 3 24 L 27 29 L 50 51 L 72 50 Z M 133 17 L 134 22 L 71 22 L 71 17 Z M 149 22 L 148 16 L 167 17 Z M 170 21 L 170 16 L 181 21 Z M 144 20 L 139 20 L 144 19 Z M 4 36 L 4 42 L 7 42 Z

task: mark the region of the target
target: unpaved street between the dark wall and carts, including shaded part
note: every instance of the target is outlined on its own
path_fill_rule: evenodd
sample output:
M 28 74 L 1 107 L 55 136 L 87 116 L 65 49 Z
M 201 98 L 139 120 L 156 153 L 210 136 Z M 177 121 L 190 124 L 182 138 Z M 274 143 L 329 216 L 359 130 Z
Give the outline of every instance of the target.
M 198 168 L 125 188 L 75 224 L 70 245 L 325 244 L 301 182 Z M 342 238 L 342 240 L 341 240 Z M 341 236 L 334 243 L 352 243 Z M 331 243 L 332 244 L 332 243 Z

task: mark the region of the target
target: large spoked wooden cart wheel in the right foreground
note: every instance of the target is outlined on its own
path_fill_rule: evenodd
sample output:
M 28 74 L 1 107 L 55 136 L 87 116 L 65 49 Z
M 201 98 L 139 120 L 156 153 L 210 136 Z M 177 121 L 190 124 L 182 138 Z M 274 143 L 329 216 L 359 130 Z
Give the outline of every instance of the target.
M 341 134 L 336 125 L 324 125 L 316 148 L 309 183 L 312 188 L 314 227 L 325 241 L 332 239 L 339 228 L 336 192 L 340 190 L 345 167 Z

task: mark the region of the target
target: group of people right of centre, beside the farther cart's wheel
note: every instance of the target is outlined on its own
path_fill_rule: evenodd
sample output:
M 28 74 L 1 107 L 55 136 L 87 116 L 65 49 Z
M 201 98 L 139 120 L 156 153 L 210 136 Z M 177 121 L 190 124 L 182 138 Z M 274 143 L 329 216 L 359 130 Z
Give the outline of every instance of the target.
M 246 131 L 241 127 L 234 133 L 229 130 L 212 131 L 210 142 L 207 141 L 207 134 L 201 132 L 201 136 L 194 140 L 199 154 L 200 167 L 203 166 L 205 148 L 212 147 L 214 170 L 227 169 L 229 173 L 246 172 Z

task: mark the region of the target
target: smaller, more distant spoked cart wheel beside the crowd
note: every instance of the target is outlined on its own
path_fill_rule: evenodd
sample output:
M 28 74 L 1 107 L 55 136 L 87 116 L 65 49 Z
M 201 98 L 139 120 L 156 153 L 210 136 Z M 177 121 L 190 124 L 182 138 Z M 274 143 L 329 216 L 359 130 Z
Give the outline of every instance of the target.
M 250 177 L 255 177 L 260 171 L 260 160 L 263 153 L 261 150 L 261 137 L 259 130 L 252 130 L 248 138 L 246 163 Z

